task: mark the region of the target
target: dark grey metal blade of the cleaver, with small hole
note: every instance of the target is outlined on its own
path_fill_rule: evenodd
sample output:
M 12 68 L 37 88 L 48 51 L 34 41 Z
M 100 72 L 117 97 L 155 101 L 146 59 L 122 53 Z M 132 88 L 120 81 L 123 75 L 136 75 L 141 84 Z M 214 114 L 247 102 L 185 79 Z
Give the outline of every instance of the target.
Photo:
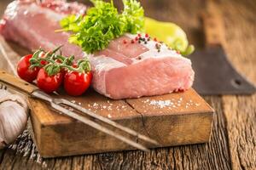
M 193 88 L 202 95 L 253 94 L 256 88 L 230 64 L 221 45 L 189 56 L 195 71 Z

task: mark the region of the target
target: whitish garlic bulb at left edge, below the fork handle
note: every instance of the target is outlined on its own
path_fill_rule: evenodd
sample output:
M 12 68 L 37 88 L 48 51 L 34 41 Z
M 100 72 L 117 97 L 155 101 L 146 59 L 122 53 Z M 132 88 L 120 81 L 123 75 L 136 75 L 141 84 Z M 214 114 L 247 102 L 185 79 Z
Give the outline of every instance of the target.
M 0 149 L 23 132 L 28 118 L 28 107 L 25 99 L 0 89 Z

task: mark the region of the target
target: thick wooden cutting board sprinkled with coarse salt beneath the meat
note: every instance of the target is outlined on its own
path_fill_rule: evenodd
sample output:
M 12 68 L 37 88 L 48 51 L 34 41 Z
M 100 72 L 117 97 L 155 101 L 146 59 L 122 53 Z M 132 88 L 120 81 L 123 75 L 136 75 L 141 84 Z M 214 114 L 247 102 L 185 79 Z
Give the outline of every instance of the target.
M 1 62 L 9 64 L 10 71 L 14 71 L 20 55 L 28 52 L 15 44 L 7 44 L 2 37 L 0 43 Z M 192 88 L 184 93 L 122 100 L 108 99 L 92 89 L 80 97 L 60 94 L 61 98 L 131 127 L 160 143 L 145 144 L 149 148 L 206 143 L 210 139 L 213 110 Z M 49 105 L 38 99 L 28 100 L 32 136 L 43 157 L 134 150 L 118 139 L 52 111 Z

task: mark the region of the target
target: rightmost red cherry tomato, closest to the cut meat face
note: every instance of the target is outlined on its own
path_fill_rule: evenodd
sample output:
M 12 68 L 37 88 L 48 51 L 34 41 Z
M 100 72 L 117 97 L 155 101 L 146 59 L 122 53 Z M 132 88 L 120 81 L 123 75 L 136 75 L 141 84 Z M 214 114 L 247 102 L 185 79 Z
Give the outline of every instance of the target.
M 64 78 L 64 88 L 67 94 L 79 96 L 89 88 L 92 80 L 91 72 L 79 73 L 77 71 L 69 71 Z

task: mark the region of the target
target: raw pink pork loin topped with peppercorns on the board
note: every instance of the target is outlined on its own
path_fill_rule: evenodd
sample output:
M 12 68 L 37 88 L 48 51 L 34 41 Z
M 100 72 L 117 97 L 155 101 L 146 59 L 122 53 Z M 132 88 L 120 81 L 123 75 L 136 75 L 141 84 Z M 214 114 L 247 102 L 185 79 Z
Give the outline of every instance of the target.
M 83 57 L 82 49 L 68 43 L 67 32 L 59 20 L 67 14 L 84 14 L 85 6 L 64 1 L 15 1 L 6 9 L 0 32 L 6 39 L 26 48 L 50 50 L 64 45 L 62 53 Z M 144 35 L 143 35 L 144 36 Z M 138 98 L 186 90 L 192 86 L 191 61 L 158 42 L 133 42 L 136 36 L 126 34 L 110 42 L 108 48 L 88 55 L 93 71 L 92 86 L 112 99 Z

